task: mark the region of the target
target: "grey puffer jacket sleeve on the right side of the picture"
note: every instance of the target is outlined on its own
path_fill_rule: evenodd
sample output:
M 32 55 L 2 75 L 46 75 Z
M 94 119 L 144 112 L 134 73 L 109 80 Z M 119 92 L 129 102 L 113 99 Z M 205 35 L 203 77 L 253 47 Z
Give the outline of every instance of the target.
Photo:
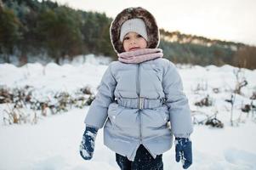
M 183 93 L 179 72 L 173 63 L 169 63 L 163 75 L 162 88 L 168 105 L 172 132 L 175 137 L 189 138 L 193 132 L 191 110 Z

